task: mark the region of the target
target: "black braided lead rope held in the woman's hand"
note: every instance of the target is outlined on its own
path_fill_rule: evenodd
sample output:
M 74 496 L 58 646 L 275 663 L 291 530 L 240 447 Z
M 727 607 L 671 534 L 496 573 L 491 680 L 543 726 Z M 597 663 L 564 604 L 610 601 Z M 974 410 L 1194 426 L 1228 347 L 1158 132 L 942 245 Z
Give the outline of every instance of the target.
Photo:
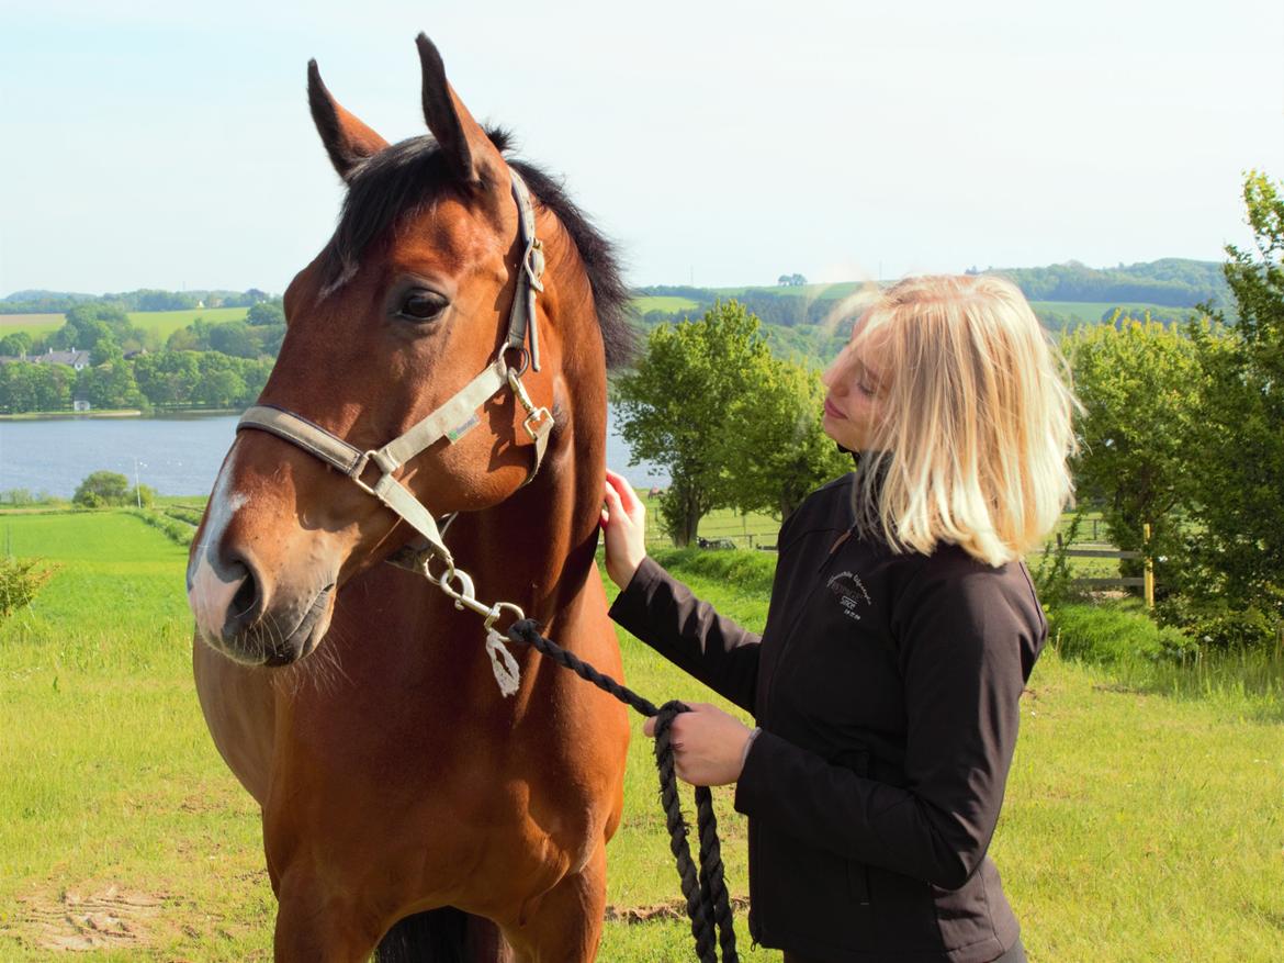
M 508 627 L 508 638 L 535 648 L 586 682 L 592 682 L 600 690 L 610 692 L 642 715 L 655 716 L 655 761 L 660 774 L 660 800 L 664 804 L 665 823 L 669 827 L 669 849 L 678 864 L 682 895 L 687 900 L 687 917 L 691 919 L 691 935 L 696 941 L 696 955 L 701 963 L 718 963 L 718 946 L 714 944 L 714 930 L 716 928 L 723 963 L 738 963 L 734 918 L 723 874 L 722 846 L 718 841 L 718 819 L 714 815 L 713 792 L 707 786 L 696 787 L 696 828 L 700 835 L 698 871 L 691 859 L 691 845 L 687 841 L 688 826 L 682 818 L 682 800 L 678 797 L 678 776 L 674 769 L 669 728 L 679 714 L 691 710 L 678 701 L 665 702 L 657 709 L 654 702 L 627 686 L 621 686 L 610 675 L 603 675 L 574 652 L 568 652 L 556 642 L 544 638 L 539 634 L 538 623 L 534 619 L 520 619 L 512 623 Z

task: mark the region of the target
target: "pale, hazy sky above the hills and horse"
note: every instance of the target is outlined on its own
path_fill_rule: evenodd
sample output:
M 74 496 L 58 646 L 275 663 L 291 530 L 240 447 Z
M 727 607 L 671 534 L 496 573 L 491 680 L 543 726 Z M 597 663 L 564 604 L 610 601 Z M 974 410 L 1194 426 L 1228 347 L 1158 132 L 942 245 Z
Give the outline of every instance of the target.
M 1284 4 L 0 0 L 0 297 L 281 291 L 343 199 L 316 58 L 389 141 L 415 35 L 633 285 L 1221 259 L 1284 178 Z

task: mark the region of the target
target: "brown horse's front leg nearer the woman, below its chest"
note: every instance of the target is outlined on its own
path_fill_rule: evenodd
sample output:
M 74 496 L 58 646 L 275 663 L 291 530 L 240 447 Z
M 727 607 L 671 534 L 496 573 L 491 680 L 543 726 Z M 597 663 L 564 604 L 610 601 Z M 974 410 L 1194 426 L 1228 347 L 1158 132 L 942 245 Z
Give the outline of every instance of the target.
M 539 899 L 521 926 L 503 935 L 521 963 L 592 963 L 606 914 L 606 841 L 584 868 L 565 877 Z

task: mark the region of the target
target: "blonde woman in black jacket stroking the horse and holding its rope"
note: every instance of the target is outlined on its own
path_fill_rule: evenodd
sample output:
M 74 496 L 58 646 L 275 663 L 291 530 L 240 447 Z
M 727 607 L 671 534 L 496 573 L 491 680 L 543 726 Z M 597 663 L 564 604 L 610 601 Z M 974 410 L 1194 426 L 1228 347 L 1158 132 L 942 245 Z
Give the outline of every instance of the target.
M 693 705 L 672 731 L 683 779 L 736 783 L 756 942 L 1023 960 L 986 850 L 1048 630 L 1022 556 L 1071 493 L 1073 398 L 1019 291 L 985 276 L 883 291 L 824 381 L 856 471 L 785 520 L 763 636 L 646 557 L 607 473 L 611 616 L 756 719 Z

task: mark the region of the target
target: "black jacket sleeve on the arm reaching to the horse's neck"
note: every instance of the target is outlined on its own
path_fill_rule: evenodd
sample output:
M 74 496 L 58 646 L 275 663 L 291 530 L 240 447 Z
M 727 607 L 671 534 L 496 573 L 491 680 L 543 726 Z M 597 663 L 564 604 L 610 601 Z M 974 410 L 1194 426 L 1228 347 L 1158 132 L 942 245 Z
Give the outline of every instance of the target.
M 657 562 L 642 560 L 610 615 L 674 665 L 752 711 L 761 638 L 718 615 Z

